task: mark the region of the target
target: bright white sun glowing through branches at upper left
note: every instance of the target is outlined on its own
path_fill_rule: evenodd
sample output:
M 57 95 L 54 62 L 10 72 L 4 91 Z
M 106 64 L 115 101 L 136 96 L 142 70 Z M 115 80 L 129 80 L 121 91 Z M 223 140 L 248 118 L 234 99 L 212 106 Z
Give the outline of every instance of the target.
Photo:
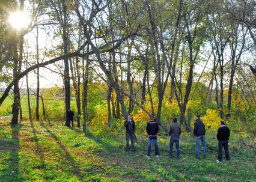
M 9 23 L 16 29 L 26 28 L 30 23 L 29 14 L 24 11 L 10 13 Z

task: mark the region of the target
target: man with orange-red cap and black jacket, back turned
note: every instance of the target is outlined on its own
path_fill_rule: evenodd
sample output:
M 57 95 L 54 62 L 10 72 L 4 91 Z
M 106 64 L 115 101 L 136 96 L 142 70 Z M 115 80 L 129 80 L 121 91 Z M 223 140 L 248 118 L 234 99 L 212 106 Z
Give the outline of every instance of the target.
M 158 145 L 157 145 L 157 132 L 159 132 L 158 123 L 155 122 L 154 118 L 150 118 L 150 122 L 147 123 L 147 133 L 148 133 L 147 157 L 150 157 L 152 139 L 154 141 L 154 151 L 156 153 L 156 157 L 159 157 L 159 149 L 158 149 Z

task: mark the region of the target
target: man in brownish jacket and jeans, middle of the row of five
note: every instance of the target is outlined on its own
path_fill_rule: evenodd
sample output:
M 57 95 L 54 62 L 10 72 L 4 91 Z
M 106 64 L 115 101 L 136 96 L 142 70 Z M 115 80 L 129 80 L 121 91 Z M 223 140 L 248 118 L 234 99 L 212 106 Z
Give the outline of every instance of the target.
M 171 124 L 170 129 L 169 129 L 169 136 L 170 136 L 170 141 L 169 141 L 169 155 L 172 158 L 172 148 L 173 144 L 175 142 L 175 147 L 176 147 L 176 158 L 179 159 L 180 157 L 180 146 L 179 146 L 179 141 L 180 141 L 180 134 L 181 134 L 181 127 L 177 123 L 177 118 L 173 119 L 173 124 Z

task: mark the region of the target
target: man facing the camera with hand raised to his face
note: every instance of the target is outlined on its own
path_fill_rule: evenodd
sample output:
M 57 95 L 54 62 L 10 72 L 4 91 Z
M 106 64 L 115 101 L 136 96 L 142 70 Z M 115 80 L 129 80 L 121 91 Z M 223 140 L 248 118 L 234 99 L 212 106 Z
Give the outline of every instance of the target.
M 132 115 L 128 115 L 128 119 L 124 121 L 126 127 L 126 151 L 130 150 L 129 139 L 132 143 L 132 151 L 135 151 L 135 123 L 132 120 Z

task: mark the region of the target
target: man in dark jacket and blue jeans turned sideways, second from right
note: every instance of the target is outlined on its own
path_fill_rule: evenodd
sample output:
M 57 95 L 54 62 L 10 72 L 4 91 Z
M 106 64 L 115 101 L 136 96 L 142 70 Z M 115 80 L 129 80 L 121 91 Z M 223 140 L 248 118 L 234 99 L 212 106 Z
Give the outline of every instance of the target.
M 202 141 L 203 144 L 203 155 L 204 158 L 206 158 L 206 128 L 204 126 L 204 123 L 199 119 L 199 115 L 195 115 L 194 120 L 194 135 L 196 138 L 196 148 L 197 148 L 197 159 L 200 159 L 200 141 Z

